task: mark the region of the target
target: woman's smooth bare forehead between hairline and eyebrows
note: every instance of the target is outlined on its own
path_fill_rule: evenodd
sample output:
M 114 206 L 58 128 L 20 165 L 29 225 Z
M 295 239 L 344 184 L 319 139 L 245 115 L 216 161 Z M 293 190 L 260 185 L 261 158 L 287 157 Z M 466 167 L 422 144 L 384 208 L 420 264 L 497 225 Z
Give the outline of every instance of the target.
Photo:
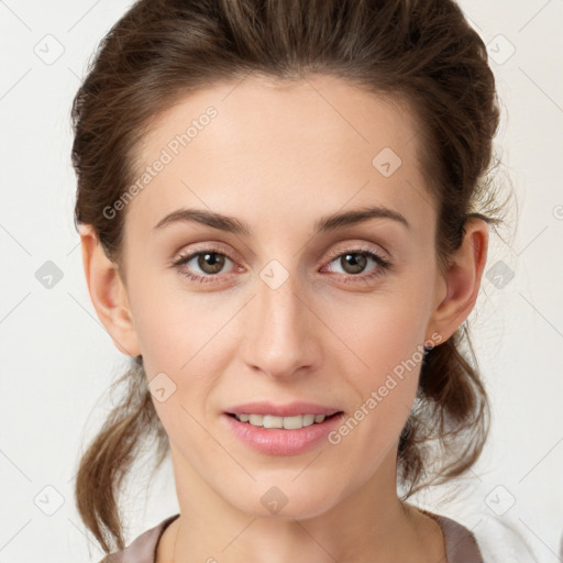
M 349 202 L 400 209 L 428 227 L 433 206 L 417 130 L 400 99 L 335 77 L 220 82 L 153 120 L 137 145 L 137 177 L 157 161 L 166 164 L 128 213 L 154 225 L 197 203 L 252 224 L 263 208 L 268 221 L 287 225 L 288 218 L 309 220 Z

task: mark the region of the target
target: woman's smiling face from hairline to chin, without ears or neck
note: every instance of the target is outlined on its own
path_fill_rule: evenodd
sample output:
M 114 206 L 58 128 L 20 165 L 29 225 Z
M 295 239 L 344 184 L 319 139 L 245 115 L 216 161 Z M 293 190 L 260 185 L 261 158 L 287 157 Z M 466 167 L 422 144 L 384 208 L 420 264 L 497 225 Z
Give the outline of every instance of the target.
M 276 486 L 295 517 L 395 493 L 422 346 L 448 336 L 416 131 L 407 109 L 329 77 L 217 85 L 154 121 L 136 154 L 151 179 L 125 207 L 124 287 L 177 487 L 267 515 Z M 200 214 L 168 217 L 180 210 Z M 264 451 L 227 415 L 250 401 L 342 415 L 321 439 Z

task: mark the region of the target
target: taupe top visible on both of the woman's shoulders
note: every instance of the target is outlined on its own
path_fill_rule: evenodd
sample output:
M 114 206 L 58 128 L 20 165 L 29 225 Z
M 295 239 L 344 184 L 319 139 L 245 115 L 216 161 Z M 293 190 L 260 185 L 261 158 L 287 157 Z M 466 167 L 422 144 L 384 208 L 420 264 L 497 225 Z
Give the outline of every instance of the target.
M 484 563 L 473 533 L 445 516 L 423 512 L 437 520 L 442 528 L 448 561 L 444 563 Z M 106 556 L 99 563 L 156 563 L 156 548 L 166 527 L 180 515 L 174 515 L 139 536 L 124 550 Z

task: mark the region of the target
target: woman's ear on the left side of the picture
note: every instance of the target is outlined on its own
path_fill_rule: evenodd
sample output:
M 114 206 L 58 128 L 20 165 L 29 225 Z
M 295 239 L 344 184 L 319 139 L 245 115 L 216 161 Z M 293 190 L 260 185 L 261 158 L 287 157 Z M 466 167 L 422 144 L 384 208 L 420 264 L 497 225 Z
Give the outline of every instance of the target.
M 120 352 L 141 355 L 125 286 L 91 225 L 80 225 L 82 264 L 88 291 L 98 318 Z

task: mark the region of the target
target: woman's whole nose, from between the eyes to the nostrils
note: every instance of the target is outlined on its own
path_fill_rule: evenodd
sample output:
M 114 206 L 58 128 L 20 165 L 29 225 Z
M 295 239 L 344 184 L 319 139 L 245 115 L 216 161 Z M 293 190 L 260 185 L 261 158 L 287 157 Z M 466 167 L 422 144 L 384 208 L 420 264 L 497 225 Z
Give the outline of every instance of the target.
M 308 302 L 308 294 L 287 276 L 277 286 L 267 274 L 257 279 L 257 294 L 249 303 L 246 334 L 243 339 L 244 361 L 254 371 L 275 378 L 291 378 L 313 371 L 321 361 L 322 322 Z M 278 279 L 279 282 L 279 279 Z

